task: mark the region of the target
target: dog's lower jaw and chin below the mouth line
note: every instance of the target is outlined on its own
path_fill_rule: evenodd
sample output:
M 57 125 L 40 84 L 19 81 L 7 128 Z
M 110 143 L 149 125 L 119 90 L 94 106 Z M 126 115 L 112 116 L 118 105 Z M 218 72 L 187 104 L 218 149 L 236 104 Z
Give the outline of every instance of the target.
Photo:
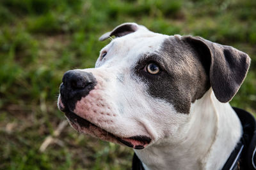
M 145 148 L 151 141 L 151 139 L 147 136 L 131 136 L 129 138 L 115 136 L 114 134 L 104 129 L 101 129 L 97 125 L 92 124 L 88 120 L 79 117 L 72 111 L 65 111 L 65 116 L 67 117 L 70 125 L 74 129 L 76 129 L 76 131 L 83 132 L 84 134 L 89 134 L 104 141 L 118 143 L 120 145 L 129 146 L 137 150 Z

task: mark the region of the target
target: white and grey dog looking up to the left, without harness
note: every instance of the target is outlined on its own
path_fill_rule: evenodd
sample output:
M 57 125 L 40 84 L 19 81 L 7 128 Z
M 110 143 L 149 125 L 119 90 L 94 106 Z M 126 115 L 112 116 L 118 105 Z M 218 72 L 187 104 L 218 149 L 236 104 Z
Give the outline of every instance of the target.
M 194 36 L 118 25 L 95 68 L 63 76 L 58 108 L 78 132 L 134 149 L 143 169 L 221 169 L 243 136 L 228 103 L 250 57 Z

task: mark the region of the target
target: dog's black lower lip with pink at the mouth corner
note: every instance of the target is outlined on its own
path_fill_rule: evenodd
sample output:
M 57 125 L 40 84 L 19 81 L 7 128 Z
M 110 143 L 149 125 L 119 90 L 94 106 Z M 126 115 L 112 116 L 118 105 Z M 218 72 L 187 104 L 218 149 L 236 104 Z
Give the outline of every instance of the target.
M 68 120 L 70 120 L 71 123 L 73 124 L 78 124 L 80 127 L 84 127 L 86 129 L 89 129 L 90 126 L 92 127 L 96 127 L 98 129 L 100 129 L 101 131 L 103 131 L 108 138 L 112 138 L 109 141 L 111 142 L 116 142 L 116 143 L 120 143 L 126 146 L 129 146 L 131 148 L 137 149 L 137 150 L 141 150 L 143 148 L 145 148 L 145 146 L 147 146 L 151 139 L 148 138 L 147 136 L 132 136 L 129 138 L 122 138 L 119 136 L 116 136 L 100 127 L 98 127 L 97 125 L 93 124 L 92 122 L 89 122 L 88 120 L 79 117 L 78 115 L 76 115 L 76 113 L 72 112 L 72 111 L 65 111 L 65 115 L 68 118 Z M 76 127 L 74 127 L 76 129 Z M 77 130 L 77 129 L 76 129 Z

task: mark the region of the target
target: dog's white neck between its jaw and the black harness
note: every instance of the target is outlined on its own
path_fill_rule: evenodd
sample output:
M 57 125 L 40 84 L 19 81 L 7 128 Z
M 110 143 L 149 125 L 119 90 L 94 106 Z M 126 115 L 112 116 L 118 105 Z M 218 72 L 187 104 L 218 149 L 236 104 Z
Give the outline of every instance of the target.
M 241 129 L 230 104 L 220 103 L 210 89 L 191 105 L 188 124 L 175 135 L 134 151 L 145 169 L 221 169 Z

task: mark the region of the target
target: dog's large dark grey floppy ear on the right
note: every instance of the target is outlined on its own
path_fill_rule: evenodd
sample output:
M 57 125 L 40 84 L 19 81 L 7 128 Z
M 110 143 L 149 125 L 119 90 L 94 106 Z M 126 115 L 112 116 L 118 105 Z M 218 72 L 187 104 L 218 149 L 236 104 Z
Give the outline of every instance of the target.
M 244 81 L 250 57 L 232 46 L 212 43 L 204 38 L 183 38 L 200 55 L 216 98 L 221 103 L 230 101 Z

